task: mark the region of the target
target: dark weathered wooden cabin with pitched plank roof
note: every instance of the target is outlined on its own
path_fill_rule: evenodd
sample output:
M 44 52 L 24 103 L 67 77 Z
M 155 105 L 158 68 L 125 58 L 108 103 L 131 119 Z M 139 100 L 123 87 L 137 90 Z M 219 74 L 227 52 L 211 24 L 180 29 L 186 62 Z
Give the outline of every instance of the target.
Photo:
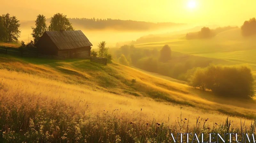
M 81 30 L 45 31 L 35 46 L 39 54 L 90 58 L 92 43 Z

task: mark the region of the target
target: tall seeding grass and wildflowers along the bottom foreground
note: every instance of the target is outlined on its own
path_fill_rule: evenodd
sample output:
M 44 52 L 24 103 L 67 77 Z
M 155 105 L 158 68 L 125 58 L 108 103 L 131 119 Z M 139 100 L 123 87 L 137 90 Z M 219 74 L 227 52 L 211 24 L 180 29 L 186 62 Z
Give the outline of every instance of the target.
M 208 124 L 207 119 L 200 117 L 196 118 L 196 124 L 190 124 L 181 114 L 172 124 L 147 122 L 143 117 L 132 122 L 120 118 L 116 109 L 97 115 L 88 109 L 81 101 L 1 94 L 0 141 L 160 143 L 171 142 L 170 133 L 206 133 L 205 139 L 209 139 L 208 133 L 254 133 L 256 126 L 255 121 L 249 126 L 242 122 L 240 127 L 233 126 L 228 118 L 222 124 Z

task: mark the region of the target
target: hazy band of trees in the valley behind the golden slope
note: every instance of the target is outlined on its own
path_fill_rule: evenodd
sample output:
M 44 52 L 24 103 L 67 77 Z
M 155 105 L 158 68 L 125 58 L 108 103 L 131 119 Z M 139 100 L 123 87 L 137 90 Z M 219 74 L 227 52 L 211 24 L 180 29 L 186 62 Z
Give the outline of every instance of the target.
M 161 50 L 136 48 L 123 45 L 119 49 L 110 49 L 113 58 L 124 65 L 132 65 L 148 72 L 186 81 L 184 74 L 193 67 L 205 67 L 212 61 L 203 57 L 172 52 L 169 45 Z

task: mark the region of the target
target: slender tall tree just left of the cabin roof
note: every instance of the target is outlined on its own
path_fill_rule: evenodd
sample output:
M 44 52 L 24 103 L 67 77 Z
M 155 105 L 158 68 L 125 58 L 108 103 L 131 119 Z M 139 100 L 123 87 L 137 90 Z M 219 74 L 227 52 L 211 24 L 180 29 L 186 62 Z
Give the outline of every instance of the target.
M 46 19 L 44 15 L 39 14 L 36 18 L 36 28 L 31 26 L 33 32 L 32 37 L 34 37 L 34 42 L 36 43 L 40 37 L 47 31 Z

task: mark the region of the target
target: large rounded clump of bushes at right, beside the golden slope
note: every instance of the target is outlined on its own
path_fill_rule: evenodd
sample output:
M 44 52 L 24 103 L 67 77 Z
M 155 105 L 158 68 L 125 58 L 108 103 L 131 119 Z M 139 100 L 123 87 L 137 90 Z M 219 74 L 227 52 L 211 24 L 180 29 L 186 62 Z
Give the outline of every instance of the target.
M 191 72 L 191 71 L 190 71 Z M 202 90 L 229 97 L 253 97 L 254 78 L 251 69 L 246 66 L 223 67 L 210 65 L 197 68 L 188 78 L 189 85 Z

